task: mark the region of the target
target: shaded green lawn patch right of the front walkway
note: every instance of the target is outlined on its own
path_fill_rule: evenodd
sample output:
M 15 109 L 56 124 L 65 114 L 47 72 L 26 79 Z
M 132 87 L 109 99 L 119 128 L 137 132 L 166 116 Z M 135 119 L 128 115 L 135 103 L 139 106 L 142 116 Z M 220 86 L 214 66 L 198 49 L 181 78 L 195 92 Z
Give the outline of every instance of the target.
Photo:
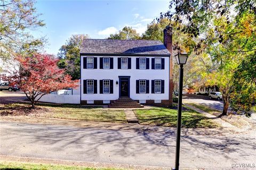
M 139 123 L 143 125 L 177 126 L 177 110 L 154 107 L 152 109 L 135 110 Z M 217 128 L 219 124 L 195 111 L 182 111 L 183 128 Z

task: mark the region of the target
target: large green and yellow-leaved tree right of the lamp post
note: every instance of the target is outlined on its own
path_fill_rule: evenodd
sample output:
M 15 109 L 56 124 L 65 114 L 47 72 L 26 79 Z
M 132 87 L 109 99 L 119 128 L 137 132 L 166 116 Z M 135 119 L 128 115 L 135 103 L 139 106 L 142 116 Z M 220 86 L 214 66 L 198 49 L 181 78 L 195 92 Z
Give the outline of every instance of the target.
M 223 96 L 222 115 L 227 115 L 236 67 L 256 50 L 256 6 L 254 1 L 174 1 L 175 12 L 161 13 L 161 18 L 182 23 L 183 33 L 195 39 L 193 50 L 205 55 L 214 68 L 202 75 L 206 84 L 218 86 Z

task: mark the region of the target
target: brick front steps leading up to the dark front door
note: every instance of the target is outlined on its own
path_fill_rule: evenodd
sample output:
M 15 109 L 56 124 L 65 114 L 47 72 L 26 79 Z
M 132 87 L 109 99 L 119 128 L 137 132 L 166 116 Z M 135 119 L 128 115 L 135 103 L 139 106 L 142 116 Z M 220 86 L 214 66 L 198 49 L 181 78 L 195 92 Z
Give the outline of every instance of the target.
M 129 97 L 121 97 L 108 105 L 110 108 L 141 108 L 144 107 Z

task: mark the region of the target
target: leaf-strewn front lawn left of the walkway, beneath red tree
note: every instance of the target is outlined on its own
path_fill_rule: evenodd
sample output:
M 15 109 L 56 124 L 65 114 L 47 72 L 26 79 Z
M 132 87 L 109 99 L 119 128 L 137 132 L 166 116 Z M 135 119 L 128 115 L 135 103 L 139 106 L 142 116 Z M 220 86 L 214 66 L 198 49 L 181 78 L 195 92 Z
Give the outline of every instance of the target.
M 122 109 L 109 109 L 101 107 L 87 107 L 81 105 L 37 105 L 30 109 L 28 104 L 2 105 L 0 115 L 26 115 L 52 118 L 65 118 L 71 120 L 126 123 L 125 113 Z

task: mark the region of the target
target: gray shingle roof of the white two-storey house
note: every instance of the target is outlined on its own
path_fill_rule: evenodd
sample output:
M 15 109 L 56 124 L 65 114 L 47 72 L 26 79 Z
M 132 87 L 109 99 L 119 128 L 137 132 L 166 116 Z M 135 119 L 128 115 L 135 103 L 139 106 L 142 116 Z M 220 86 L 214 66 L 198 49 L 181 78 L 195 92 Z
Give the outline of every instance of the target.
M 80 53 L 170 55 L 169 50 L 158 40 L 114 39 L 84 39 Z

